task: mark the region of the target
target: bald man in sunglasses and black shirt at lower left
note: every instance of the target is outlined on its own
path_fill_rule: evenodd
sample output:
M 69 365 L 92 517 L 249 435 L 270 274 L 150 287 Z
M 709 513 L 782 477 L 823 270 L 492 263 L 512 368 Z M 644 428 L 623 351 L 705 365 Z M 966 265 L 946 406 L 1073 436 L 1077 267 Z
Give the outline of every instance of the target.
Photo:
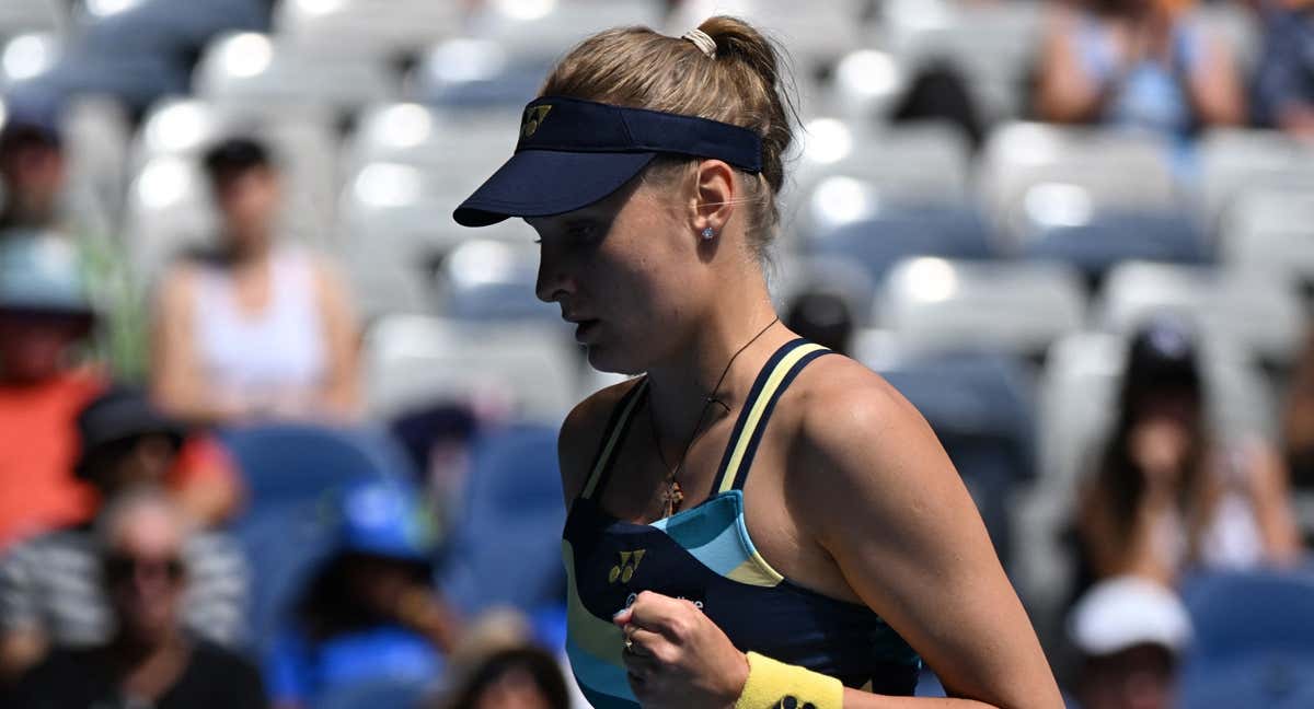
M 110 505 L 97 537 L 117 630 L 108 643 L 51 653 L 20 683 L 14 706 L 267 706 L 255 667 L 183 630 L 184 592 L 194 571 L 184 555 L 187 529 L 181 511 L 151 488 L 127 492 Z

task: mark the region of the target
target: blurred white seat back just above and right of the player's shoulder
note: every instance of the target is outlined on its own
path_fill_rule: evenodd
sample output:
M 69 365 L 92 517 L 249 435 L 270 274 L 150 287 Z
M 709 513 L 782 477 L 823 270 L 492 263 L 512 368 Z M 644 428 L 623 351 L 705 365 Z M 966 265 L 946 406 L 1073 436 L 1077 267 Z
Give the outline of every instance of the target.
M 1081 328 L 1080 277 L 1062 264 L 913 257 L 886 276 L 875 323 L 920 345 L 1042 354 Z

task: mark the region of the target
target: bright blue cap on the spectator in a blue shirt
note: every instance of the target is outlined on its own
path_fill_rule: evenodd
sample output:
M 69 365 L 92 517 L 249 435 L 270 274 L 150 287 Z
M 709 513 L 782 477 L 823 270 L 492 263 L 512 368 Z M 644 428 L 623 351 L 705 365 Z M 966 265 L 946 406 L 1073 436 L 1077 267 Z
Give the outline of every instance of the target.
M 342 499 L 342 549 L 402 561 L 432 561 L 434 521 L 410 486 L 369 481 Z

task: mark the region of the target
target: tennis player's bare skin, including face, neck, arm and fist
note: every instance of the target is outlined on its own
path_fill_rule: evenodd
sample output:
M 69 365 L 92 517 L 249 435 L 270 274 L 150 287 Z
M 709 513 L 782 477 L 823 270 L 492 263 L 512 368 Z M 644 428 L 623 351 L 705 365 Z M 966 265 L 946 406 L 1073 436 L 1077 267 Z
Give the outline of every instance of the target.
M 636 181 L 582 210 L 527 219 L 541 238 L 537 294 L 566 319 L 597 319 L 578 337 L 603 370 L 646 372 L 650 408 L 619 452 L 608 513 L 661 515 L 668 461 L 679 458 L 725 362 L 775 318 L 736 207 L 745 193 L 725 163 L 678 179 Z M 716 238 L 699 232 L 712 227 Z M 656 336 L 654 336 L 656 335 Z M 774 324 L 740 354 L 681 467 L 685 507 L 706 499 L 735 415 L 767 357 L 794 339 Z M 566 500 L 586 483 L 603 428 L 629 383 L 568 416 L 560 454 Z M 652 435 L 641 432 L 652 424 Z M 930 427 L 884 379 L 828 356 L 809 365 L 775 410 L 745 490 L 759 553 L 794 583 L 863 603 L 929 663 L 953 697 L 846 689 L 848 709 L 1062 706 L 1058 687 L 986 528 Z M 615 622 L 640 702 L 729 708 L 748 677 L 740 653 L 691 603 L 640 593 Z

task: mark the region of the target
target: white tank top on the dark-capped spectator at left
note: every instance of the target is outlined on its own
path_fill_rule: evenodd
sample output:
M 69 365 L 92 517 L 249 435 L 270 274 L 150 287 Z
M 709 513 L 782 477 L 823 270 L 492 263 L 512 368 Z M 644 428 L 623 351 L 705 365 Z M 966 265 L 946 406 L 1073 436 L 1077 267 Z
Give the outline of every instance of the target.
M 276 252 L 269 302 L 243 312 L 227 270 L 202 268 L 193 303 L 205 377 L 225 400 L 279 411 L 313 411 L 327 370 L 314 265 L 300 248 Z

